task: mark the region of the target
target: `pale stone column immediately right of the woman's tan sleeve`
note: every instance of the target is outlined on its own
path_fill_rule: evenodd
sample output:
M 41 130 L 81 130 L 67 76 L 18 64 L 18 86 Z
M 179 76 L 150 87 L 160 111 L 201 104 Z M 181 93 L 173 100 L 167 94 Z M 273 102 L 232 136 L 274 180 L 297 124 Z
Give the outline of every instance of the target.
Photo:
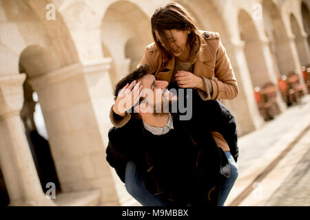
M 255 102 L 254 87 L 247 67 L 244 46 L 243 41 L 233 41 L 231 44 L 225 45 L 239 86 L 237 98 L 229 101 L 229 106 L 237 120 L 239 135 L 254 131 L 263 124 Z

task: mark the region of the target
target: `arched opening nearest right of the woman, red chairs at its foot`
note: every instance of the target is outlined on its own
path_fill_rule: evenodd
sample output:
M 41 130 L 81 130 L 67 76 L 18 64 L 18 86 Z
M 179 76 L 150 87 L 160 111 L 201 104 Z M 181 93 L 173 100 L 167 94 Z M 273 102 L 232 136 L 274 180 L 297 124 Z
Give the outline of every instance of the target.
M 251 92 L 256 94 L 257 107 L 261 115 L 265 120 L 269 120 L 277 113 L 280 113 L 276 77 L 273 68 L 269 67 L 268 69 L 267 67 L 267 59 L 271 58 L 269 45 L 262 40 L 262 34 L 259 36 L 254 21 L 245 10 L 240 10 L 238 14 L 238 26 L 240 39 L 245 43 L 244 53 L 253 86 Z M 272 87 L 272 94 L 265 93 L 267 87 Z M 267 109 L 264 106 L 266 102 L 271 100 L 270 96 L 273 96 L 272 99 L 278 98 L 278 100 L 275 100 L 275 103 Z

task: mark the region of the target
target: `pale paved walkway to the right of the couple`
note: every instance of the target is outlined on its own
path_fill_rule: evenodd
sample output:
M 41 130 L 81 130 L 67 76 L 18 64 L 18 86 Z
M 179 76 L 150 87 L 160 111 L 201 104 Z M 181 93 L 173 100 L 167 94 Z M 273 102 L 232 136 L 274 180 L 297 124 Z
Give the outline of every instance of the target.
M 309 203 L 310 189 L 304 186 L 309 183 L 309 124 L 310 95 L 307 95 L 275 120 L 240 137 L 239 177 L 225 205 Z

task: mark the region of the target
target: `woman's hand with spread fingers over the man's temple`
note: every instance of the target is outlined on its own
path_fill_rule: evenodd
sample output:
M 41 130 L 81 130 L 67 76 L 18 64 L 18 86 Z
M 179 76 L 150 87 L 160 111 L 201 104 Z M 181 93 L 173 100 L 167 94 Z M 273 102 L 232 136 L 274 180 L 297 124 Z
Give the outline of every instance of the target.
M 141 85 L 141 83 L 137 83 L 136 80 L 130 84 L 127 83 L 127 85 L 125 85 L 125 87 L 123 87 L 123 89 L 121 89 L 118 93 L 113 106 L 113 111 L 124 117 L 126 115 L 125 111 L 131 109 L 141 98 L 142 89 L 143 85 Z

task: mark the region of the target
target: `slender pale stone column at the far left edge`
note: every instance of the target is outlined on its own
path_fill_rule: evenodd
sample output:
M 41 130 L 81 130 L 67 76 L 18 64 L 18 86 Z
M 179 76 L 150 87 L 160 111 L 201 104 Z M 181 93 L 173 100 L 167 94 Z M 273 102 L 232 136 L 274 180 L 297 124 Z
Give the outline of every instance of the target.
M 0 76 L 0 162 L 10 206 L 55 206 L 45 197 L 19 113 L 25 74 Z

